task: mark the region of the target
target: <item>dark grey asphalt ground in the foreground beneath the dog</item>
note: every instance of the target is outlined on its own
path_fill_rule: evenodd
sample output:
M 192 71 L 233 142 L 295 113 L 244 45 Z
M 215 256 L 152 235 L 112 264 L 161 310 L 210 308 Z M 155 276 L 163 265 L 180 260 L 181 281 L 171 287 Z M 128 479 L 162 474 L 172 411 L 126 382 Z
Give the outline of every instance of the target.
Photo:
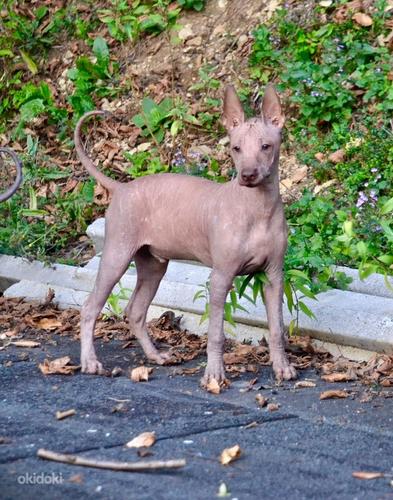
M 277 386 L 269 367 L 261 367 L 254 385 L 249 381 L 255 375 L 243 374 L 219 395 L 200 388 L 200 373 L 174 375 L 178 367 L 154 367 L 148 382 L 135 383 L 127 368 L 143 357 L 122 344 L 96 341 L 105 366 L 123 368 L 116 378 L 44 376 L 37 365 L 45 358 L 70 355 L 78 363 L 79 345 L 70 337 L 48 337 L 38 349 L 0 351 L 1 499 L 213 499 L 221 483 L 226 498 L 239 500 L 393 499 L 391 388 L 329 384 L 310 369 L 300 378 L 316 387 Z M 320 401 L 320 393 L 332 388 L 351 395 Z M 260 408 L 257 393 L 279 410 Z M 70 408 L 74 416 L 56 419 L 56 411 Z M 154 431 L 157 442 L 148 450 L 152 455 L 140 458 L 124 445 L 145 431 Z M 241 457 L 221 465 L 221 451 L 235 444 Z M 185 458 L 187 465 L 116 472 L 43 460 L 39 448 L 106 460 Z M 386 476 L 359 480 L 354 471 Z

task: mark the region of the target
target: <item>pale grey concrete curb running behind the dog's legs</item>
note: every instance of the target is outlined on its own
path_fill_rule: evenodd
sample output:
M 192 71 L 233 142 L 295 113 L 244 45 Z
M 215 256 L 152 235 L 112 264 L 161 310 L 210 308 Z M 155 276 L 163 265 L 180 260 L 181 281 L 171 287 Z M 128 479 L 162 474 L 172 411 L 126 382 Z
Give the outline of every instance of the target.
M 91 267 L 76 268 L 73 266 L 56 265 L 45 267 L 40 262 L 28 262 L 18 257 L 0 256 L 0 276 L 18 282 L 5 292 L 7 297 L 23 296 L 29 299 L 42 299 L 46 296 L 49 287 L 54 288 L 57 300 L 62 307 L 80 307 L 87 293 L 92 289 L 97 266 L 97 260 Z M 204 301 L 198 299 L 193 302 L 195 293 L 200 290 L 199 284 L 205 278 L 205 269 L 179 262 L 171 263 L 172 270 L 161 282 L 160 288 L 153 300 L 153 305 L 161 308 L 170 308 L 188 314 L 201 315 L 204 311 Z M 187 270 L 189 274 L 187 274 Z M 197 272 L 198 271 L 198 272 Z M 199 274 L 201 272 L 202 274 Z M 29 281 L 26 281 L 29 277 Z M 176 278 L 178 281 L 175 281 Z M 125 288 L 133 289 L 136 284 L 134 270 L 126 274 L 121 284 Z M 330 290 L 320 294 L 318 301 L 305 300 L 313 310 L 316 319 L 311 319 L 300 313 L 299 326 L 303 334 L 313 338 L 335 343 L 340 346 L 351 346 L 377 351 L 393 353 L 393 299 L 355 293 L 351 291 Z M 248 313 L 239 311 L 234 315 L 239 328 L 258 328 L 261 335 L 261 326 L 266 328 L 266 311 L 260 302 L 255 306 L 245 299 L 240 303 Z M 288 326 L 291 316 L 284 312 L 284 323 Z M 206 328 L 206 327 L 205 327 Z M 237 337 L 240 334 L 234 332 Z M 242 338 L 246 338 L 241 334 Z M 254 333 L 251 337 L 254 336 Z

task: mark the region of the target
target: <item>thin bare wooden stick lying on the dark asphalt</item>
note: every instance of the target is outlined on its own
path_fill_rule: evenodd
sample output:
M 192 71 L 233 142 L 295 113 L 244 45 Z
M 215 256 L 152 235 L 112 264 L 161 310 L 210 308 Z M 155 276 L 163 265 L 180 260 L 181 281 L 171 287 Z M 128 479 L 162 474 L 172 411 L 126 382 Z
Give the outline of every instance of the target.
M 53 460 L 55 462 L 62 462 L 65 464 L 81 465 L 83 467 L 95 467 L 97 469 L 123 470 L 130 472 L 155 469 L 178 469 L 186 465 L 186 461 L 184 459 L 165 461 L 153 460 L 151 462 L 111 462 L 107 460 L 95 460 L 80 457 L 78 455 L 56 453 L 54 451 L 45 450 L 44 448 L 40 448 L 37 451 L 37 455 L 40 458 L 46 458 L 47 460 Z

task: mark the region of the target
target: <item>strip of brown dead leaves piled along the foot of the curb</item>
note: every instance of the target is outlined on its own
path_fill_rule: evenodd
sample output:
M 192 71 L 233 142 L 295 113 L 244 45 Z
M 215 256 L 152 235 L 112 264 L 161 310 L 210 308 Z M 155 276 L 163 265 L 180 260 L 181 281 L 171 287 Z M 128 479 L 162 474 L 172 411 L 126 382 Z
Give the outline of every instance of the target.
M 53 304 L 52 299 L 53 295 L 49 296 L 45 303 L 39 304 L 0 297 L 0 341 L 3 342 L 0 349 L 12 345 L 21 348 L 39 347 L 43 344 L 43 340 L 48 339 L 48 335 L 53 334 L 72 335 L 76 339 L 79 335 L 79 311 L 60 310 Z M 166 311 L 148 325 L 153 340 L 171 349 L 171 364 L 193 360 L 206 351 L 207 337 L 182 330 L 180 320 L 181 318 L 176 317 L 172 311 Z M 25 335 L 34 335 L 34 339 L 22 338 Z M 115 336 L 119 339 L 130 338 L 128 324 L 125 321 L 112 318 L 97 321 L 96 338 L 109 342 Z M 292 337 L 288 349 L 290 361 L 298 370 L 313 368 L 321 373 L 322 380 L 326 382 L 359 381 L 365 385 L 393 387 L 393 356 L 378 354 L 368 362 L 333 358 L 328 352 L 317 349 L 312 340 L 306 336 Z M 40 367 L 41 371 L 45 374 L 70 374 L 78 369 L 69 363 L 57 366 L 55 361 L 45 360 L 41 365 L 42 368 Z M 260 366 L 270 365 L 269 350 L 263 340 L 261 345 L 255 346 L 239 344 L 228 339 L 225 343 L 224 363 L 229 378 L 238 377 L 246 372 L 257 373 Z M 173 374 L 192 375 L 200 369 L 200 366 L 179 367 Z M 117 369 L 113 376 L 119 373 Z M 143 377 L 140 380 L 143 380 Z M 295 383 L 294 387 L 308 388 L 311 384 L 308 381 L 300 381 Z M 217 384 L 213 383 L 211 389 L 212 393 L 218 393 Z

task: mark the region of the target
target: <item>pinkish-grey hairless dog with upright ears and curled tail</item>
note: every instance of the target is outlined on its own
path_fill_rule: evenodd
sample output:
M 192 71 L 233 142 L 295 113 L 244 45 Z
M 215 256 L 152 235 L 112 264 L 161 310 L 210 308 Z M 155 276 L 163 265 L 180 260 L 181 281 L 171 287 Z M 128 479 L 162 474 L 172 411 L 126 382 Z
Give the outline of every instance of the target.
M 81 312 L 81 364 L 85 373 L 102 372 L 93 345 L 94 326 L 113 286 L 135 261 L 137 283 L 127 305 L 131 331 L 151 361 L 164 364 L 146 328 L 146 313 L 170 259 L 202 262 L 212 268 L 207 366 L 203 383 L 225 379 L 224 304 L 235 276 L 265 271 L 265 304 L 270 359 L 277 379 L 296 377 L 285 353 L 282 319 L 283 258 L 287 225 L 279 192 L 278 161 L 284 115 L 272 86 L 261 116 L 246 120 L 234 87 L 224 96 L 223 121 L 230 137 L 237 178 L 225 184 L 180 174 L 156 174 L 129 183 L 106 177 L 81 142 L 86 113 L 75 129 L 80 161 L 112 194 L 106 212 L 105 243 L 97 280 Z

